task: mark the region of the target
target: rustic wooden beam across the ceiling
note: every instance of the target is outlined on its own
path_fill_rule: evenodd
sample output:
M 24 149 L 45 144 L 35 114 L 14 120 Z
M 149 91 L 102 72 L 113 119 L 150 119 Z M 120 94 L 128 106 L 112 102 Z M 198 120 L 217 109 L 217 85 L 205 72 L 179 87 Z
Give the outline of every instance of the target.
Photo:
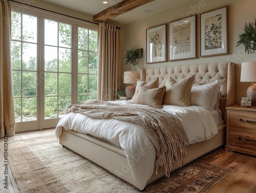
M 105 22 L 118 15 L 129 12 L 137 7 L 153 2 L 155 0 L 123 0 L 93 16 L 94 22 Z

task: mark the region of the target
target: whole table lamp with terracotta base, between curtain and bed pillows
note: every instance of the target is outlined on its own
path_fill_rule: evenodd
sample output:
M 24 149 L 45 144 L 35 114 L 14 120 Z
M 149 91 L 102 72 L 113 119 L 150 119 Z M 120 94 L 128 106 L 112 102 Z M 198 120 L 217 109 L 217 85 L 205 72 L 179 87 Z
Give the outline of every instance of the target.
M 127 71 L 123 74 L 123 83 L 129 83 L 125 88 L 125 95 L 127 99 L 131 99 L 135 93 L 135 87 L 131 84 L 136 84 L 138 79 L 138 72 L 135 71 Z

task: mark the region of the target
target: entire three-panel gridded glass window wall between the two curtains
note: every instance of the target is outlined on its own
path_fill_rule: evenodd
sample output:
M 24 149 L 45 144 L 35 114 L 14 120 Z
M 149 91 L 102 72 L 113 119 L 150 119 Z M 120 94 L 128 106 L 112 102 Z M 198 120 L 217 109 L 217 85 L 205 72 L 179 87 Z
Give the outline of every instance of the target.
M 13 10 L 11 38 L 16 131 L 54 127 L 68 105 L 97 98 L 95 26 Z

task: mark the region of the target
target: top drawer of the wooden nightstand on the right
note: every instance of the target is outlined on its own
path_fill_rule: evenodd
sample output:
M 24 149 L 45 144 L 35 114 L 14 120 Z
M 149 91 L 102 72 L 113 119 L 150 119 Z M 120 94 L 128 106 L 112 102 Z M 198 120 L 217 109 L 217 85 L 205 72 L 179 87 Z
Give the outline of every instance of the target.
M 230 127 L 247 129 L 256 132 L 256 113 L 230 111 L 229 112 L 229 125 Z M 231 129 L 231 128 L 230 128 Z

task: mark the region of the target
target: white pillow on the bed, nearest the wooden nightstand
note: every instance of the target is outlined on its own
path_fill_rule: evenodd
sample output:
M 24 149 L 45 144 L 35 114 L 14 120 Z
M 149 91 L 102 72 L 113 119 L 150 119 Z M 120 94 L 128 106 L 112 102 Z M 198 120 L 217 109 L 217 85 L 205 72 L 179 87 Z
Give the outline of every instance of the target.
M 190 105 L 204 106 L 213 110 L 217 103 L 220 84 L 215 80 L 208 84 L 193 85 L 190 92 Z

